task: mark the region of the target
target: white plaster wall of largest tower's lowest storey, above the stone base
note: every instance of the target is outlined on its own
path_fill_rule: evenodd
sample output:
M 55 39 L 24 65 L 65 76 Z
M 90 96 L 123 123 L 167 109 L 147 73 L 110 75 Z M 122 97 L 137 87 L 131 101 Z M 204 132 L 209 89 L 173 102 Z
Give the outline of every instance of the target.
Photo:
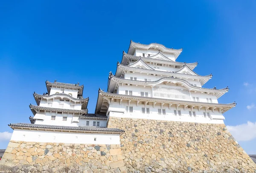
M 184 110 L 184 107 L 179 107 L 178 110 L 181 111 L 181 116 L 174 115 L 174 110 L 176 110 L 176 107 L 172 106 L 171 109 L 169 109 L 168 105 L 163 105 L 163 109 L 166 110 L 166 115 L 158 115 L 158 109 L 161 109 L 160 103 L 157 103 L 155 107 L 153 108 L 152 104 L 146 105 L 146 107 L 149 107 L 150 113 L 149 114 L 143 114 L 142 113 L 142 107 L 145 107 L 145 105 L 141 104 L 141 102 L 138 104 L 135 101 L 131 101 L 130 106 L 133 107 L 133 112 L 126 112 L 125 107 L 128 106 L 128 101 L 122 101 L 122 104 L 119 104 L 119 100 L 117 102 L 113 102 L 108 110 L 115 110 L 115 112 L 110 112 L 109 116 L 114 117 L 122 117 L 122 118 L 145 118 L 145 119 L 155 119 L 155 120 L 165 120 L 165 121 L 184 121 L 184 122 L 197 122 L 197 123 L 213 123 L 213 124 L 223 124 L 224 116 L 219 113 L 218 111 L 212 112 L 211 110 L 208 110 L 207 112 L 210 113 L 211 118 L 205 118 L 204 112 L 206 112 L 204 109 L 201 109 L 198 111 L 198 109 L 193 109 L 192 111 L 196 112 L 196 117 L 189 116 L 189 111 L 191 111 L 190 108 L 186 108 Z M 206 114 L 207 115 L 207 114 Z M 214 118 L 212 118 L 214 117 Z

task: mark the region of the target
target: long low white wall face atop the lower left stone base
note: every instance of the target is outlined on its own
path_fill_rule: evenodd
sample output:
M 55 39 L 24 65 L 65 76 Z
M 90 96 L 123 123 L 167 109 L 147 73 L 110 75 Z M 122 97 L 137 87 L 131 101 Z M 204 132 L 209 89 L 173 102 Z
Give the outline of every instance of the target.
M 71 144 L 120 144 L 120 135 L 119 133 L 76 133 L 15 129 L 11 140 Z

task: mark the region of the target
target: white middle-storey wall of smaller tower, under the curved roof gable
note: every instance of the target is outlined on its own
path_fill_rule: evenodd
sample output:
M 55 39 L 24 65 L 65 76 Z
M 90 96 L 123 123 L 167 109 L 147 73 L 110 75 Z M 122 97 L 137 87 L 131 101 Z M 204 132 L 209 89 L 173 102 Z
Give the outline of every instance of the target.
M 60 100 L 64 100 L 64 101 L 60 101 Z M 73 109 L 75 110 L 81 110 L 81 104 L 80 102 L 73 102 L 73 101 L 69 101 L 70 99 L 69 98 L 59 98 L 59 97 L 55 97 L 54 98 L 54 101 L 52 99 L 49 99 L 47 101 L 47 99 L 43 99 L 41 102 L 40 102 L 40 105 L 41 107 L 49 107 L 48 106 L 48 103 L 52 103 L 52 107 L 55 107 L 55 108 L 61 108 L 60 107 L 60 104 L 63 104 L 63 109 L 72 109 L 70 107 L 71 104 L 75 105 Z

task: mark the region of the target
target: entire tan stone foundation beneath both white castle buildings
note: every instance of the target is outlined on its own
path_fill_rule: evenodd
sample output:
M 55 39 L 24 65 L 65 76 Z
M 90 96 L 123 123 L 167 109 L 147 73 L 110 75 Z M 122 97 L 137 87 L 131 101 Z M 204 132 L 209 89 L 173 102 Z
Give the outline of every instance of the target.
M 110 117 L 120 145 L 10 141 L 0 172 L 256 173 L 224 124 Z

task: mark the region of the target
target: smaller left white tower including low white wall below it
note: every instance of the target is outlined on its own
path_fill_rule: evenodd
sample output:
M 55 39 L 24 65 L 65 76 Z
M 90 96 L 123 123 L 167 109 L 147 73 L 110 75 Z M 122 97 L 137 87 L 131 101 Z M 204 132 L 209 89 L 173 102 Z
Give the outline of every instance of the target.
M 106 128 L 107 116 L 87 113 L 83 85 L 46 81 L 47 93 L 34 92 L 31 124 L 9 124 L 11 141 L 119 144 L 123 130 Z M 104 134 L 104 135 L 103 135 Z

